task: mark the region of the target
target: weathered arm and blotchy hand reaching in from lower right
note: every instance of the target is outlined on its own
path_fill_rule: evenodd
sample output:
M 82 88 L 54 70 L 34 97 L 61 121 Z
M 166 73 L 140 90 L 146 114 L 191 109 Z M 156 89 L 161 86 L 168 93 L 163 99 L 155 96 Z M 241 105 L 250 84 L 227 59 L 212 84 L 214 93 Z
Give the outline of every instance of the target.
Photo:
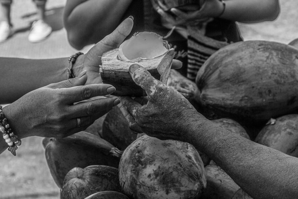
M 121 110 L 131 129 L 193 144 L 253 198 L 298 197 L 297 158 L 213 124 L 180 93 L 152 78 L 144 68 L 132 65 L 130 71 L 149 98 L 142 106 L 131 98 L 121 97 L 124 104 Z

